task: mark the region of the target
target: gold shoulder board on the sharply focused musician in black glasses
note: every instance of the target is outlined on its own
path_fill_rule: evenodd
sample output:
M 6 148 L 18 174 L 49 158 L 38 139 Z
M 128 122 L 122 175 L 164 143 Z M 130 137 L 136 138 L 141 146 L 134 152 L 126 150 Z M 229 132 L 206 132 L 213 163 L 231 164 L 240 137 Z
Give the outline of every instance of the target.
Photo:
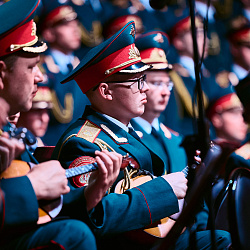
M 101 128 L 97 127 L 90 121 L 86 120 L 79 132 L 77 133 L 76 137 L 83 138 L 91 143 L 93 143 L 100 133 Z

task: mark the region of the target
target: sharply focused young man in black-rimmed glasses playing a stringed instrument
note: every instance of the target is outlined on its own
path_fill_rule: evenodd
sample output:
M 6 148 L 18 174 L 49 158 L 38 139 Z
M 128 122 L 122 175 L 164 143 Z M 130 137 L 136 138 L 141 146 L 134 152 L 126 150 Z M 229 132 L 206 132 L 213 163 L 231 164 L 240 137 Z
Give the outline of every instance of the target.
M 164 216 L 176 213 L 179 210 L 178 200 L 185 196 L 187 188 L 183 173 L 161 175 L 164 162 L 141 142 L 130 124 L 132 118 L 143 114 L 146 92 L 149 90 L 145 70 L 150 66 L 141 62 L 134 39 L 135 24 L 132 21 L 90 50 L 62 81 L 67 84 L 74 79 L 88 96 L 91 106 L 87 106 L 83 116 L 65 131 L 56 145 L 53 158 L 58 159 L 65 168 L 71 168 L 81 166 L 84 159 L 93 156 L 96 150 L 106 149 L 122 155 L 129 154 L 135 160 L 134 164 L 120 172 L 111 193 L 105 196 L 105 211 L 104 208 L 95 211 L 96 215 L 104 214 L 105 222 L 109 225 L 106 229 L 93 227 L 100 249 L 145 247 L 141 238 L 137 238 L 137 242 L 125 238 L 122 234 L 124 229 L 133 234 L 133 229 L 144 229 L 145 225 L 151 226 Z M 142 171 L 149 181 L 132 188 L 133 171 L 139 177 Z M 156 178 L 152 178 L 152 175 Z M 86 179 L 85 176 L 74 178 L 72 189 L 85 186 Z M 126 185 L 126 180 L 130 186 Z M 119 181 L 124 183 L 121 188 L 116 187 Z M 112 193 L 116 188 L 117 193 L 122 193 L 120 198 L 119 194 Z M 130 202 L 127 195 L 131 198 Z M 119 198 L 119 202 L 114 200 L 115 197 Z M 125 211 L 121 211 L 120 206 Z M 117 209 L 114 210 L 114 207 Z M 217 231 L 216 244 L 221 248 L 228 246 L 228 236 L 227 232 Z M 196 237 L 197 248 L 210 245 L 210 232 L 199 231 Z M 186 230 L 179 236 L 175 249 L 188 246 L 189 232 Z M 146 248 L 150 248 L 150 245 Z

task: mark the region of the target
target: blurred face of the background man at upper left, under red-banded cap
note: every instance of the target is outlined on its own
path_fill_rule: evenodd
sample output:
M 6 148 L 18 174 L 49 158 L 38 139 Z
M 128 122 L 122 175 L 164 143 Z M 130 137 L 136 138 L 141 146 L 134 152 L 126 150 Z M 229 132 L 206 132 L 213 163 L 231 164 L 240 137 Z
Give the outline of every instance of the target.
M 68 53 L 80 47 L 81 31 L 77 20 L 56 25 L 51 30 L 54 33 L 55 48 Z

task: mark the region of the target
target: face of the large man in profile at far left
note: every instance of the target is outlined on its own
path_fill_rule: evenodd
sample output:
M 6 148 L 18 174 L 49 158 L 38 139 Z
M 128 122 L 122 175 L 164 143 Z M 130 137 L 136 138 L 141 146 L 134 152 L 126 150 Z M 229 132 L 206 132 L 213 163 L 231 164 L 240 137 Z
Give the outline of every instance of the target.
M 23 53 L 17 57 L 10 69 L 4 70 L 2 78 L 4 88 L 1 95 L 10 105 L 9 115 L 31 108 L 32 99 L 37 92 L 37 83 L 43 80 L 43 75 L 37 66 L 39 60 L 39 55 Z

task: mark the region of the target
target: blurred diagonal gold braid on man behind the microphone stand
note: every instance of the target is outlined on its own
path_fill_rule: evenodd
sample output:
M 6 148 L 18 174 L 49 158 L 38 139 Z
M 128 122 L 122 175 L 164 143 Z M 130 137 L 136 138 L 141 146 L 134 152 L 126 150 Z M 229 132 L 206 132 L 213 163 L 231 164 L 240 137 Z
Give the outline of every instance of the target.
M 178 95 L 180 96 L 180 98 L 181 98 L 187 112 L 189 113 L 189 115 L 191 115 L 191 116 L 195 115 L 195 117 L 197 117 L 198 116 L 198 107 L 195 104 L 194 110 L 193 110 L 192 97 L 191 97 L 190 93 L 188 92 L 182 78 L 174 70 L 169 72 L 169 76 L 172 79 L 172 81 L 174 82 L 174 87 L 175 87 Z M 203 94 L 203 100 L 204 100 L 204 108 L 206 108 L 208 106 L 208 98 L 204 92 L 202 92 L 202 94 Z

